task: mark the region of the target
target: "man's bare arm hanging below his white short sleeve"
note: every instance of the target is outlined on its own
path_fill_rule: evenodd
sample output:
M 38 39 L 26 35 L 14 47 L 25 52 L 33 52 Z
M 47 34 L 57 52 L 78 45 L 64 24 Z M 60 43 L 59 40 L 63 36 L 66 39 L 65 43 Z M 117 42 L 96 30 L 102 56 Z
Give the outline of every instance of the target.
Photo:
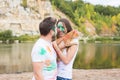
M 35 80 L 44 80 L 42 74 L 43 62 L 33 62 L 32 64 Z

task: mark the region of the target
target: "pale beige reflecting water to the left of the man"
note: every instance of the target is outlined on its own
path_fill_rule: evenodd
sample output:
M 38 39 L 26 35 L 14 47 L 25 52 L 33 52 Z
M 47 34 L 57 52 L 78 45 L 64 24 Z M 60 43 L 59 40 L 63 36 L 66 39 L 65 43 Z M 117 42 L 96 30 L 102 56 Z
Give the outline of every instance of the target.
M 32 71 L 33 43 L 0 44 L 0 73 Z

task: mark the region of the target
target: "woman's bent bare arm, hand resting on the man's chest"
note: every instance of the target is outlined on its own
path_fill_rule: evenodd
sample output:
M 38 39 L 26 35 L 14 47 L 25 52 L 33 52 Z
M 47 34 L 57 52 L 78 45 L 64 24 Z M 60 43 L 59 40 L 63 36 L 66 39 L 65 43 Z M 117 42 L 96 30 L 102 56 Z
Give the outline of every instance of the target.
M 72 45 L 68 48 L 67 54 L 64 55 L 62 51 L 57 46 L 56 42 L 53 42 L 54 49 L 56 50 L 57 54 L 59 55 L 60 59 L 63 61 L 64 64 L 68 64 L 73 56 L 75 55 L 75 52 L 77 50 L 78 45 Z

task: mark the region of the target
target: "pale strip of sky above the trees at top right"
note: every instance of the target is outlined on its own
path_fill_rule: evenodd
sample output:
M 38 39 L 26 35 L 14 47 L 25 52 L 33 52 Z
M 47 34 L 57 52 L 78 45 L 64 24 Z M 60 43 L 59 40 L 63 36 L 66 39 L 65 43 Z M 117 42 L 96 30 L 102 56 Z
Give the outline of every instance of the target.
M 107 5 L 111 5 L 111 6 L 115 6 L 115 7 L 120 6 L 120 0 L 83 0 L 83 1 L 89 2 L 94 5 L 101 4 L 104 6 L 107 6 Z

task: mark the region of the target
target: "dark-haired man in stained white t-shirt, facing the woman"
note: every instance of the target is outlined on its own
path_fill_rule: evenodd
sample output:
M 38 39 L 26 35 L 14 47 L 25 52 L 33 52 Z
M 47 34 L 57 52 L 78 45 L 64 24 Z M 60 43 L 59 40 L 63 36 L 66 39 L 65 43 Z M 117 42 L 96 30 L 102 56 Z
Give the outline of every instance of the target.
M 31 57 L 34 76 L 32 80 L 56 80 L 56 52 L 52 46 L 56 19 L 45 18 L 39 25 L 40 39 L 35 43 Z

